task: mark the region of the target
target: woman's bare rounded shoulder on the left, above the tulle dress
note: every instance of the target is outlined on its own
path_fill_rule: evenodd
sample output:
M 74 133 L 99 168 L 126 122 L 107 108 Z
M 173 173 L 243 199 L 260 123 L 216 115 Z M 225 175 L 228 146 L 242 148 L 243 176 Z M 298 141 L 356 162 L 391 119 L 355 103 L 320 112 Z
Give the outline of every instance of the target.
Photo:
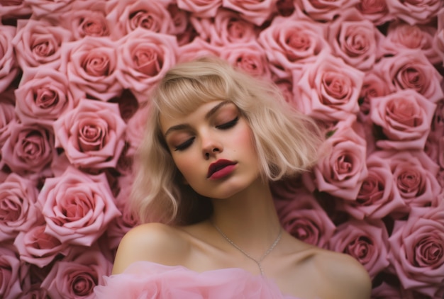
M 188 244 L 176 227 L 162 223 L 146 223 L 133 227 L 118 245 L 113 274 L 123 272 L 135 261 L 158 264 L 180 264 Z

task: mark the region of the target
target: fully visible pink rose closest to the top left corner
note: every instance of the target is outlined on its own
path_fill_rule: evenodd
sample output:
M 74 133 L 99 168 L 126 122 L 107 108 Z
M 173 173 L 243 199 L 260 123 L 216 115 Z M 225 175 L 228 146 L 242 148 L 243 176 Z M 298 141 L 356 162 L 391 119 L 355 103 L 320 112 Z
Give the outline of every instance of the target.
M 71 40 L 71 36 L 69 30 L 49 21 L 18 20 L 17 33 L 12 40 L 18 64 L 23 70 L 41 64 L 56 69 L 60 66 L 60 47 Z

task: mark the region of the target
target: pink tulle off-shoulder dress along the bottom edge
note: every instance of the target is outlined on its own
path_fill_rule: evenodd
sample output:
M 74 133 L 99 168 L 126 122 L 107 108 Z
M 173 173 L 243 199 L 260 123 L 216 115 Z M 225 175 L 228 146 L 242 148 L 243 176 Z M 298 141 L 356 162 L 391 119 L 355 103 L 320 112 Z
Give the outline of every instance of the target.
M 104 286 L 94 288 L 97 298 L 295 299 L 283 295 L 267 278 L 238 268 L 198 273 L 183 266 L 137 261 L 123 273 L 104 279 Z

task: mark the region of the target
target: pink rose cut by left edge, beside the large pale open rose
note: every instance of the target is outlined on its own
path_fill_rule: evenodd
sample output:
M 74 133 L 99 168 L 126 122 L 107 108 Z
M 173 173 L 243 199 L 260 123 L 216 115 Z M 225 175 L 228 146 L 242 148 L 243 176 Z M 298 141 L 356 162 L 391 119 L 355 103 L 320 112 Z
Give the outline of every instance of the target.
M 0 241 L 29 230 L 40 216 L 35 207 L 38 190 L 28 179 L 9 174 L 0 183 Z

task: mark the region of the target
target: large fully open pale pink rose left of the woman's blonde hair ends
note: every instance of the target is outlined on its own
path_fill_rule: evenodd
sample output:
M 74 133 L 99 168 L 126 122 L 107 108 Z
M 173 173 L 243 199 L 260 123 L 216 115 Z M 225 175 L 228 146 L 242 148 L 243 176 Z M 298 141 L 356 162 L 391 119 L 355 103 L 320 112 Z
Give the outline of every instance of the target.
M 62 243 L 90 246 L 121 215 L 105 174 L 84 174 L 70 167 L 62 176 L 46 179 L 38 205 L 45 233 Z

